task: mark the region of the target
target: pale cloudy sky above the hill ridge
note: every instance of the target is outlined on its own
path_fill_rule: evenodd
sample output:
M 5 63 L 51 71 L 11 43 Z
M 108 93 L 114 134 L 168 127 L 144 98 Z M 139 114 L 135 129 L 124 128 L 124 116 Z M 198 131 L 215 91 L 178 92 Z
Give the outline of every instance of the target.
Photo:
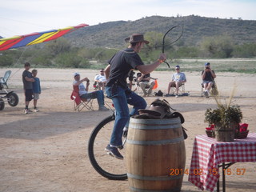
M 191 14 L 209 18 L 256 20 L 256 0 L 0 0 L 0 35 L 134 21 L 143 17 Z

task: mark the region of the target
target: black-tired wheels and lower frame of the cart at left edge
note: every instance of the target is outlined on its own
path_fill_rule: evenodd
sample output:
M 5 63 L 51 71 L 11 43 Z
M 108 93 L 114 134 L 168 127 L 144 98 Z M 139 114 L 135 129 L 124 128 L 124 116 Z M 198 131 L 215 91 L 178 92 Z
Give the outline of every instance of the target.
M 5 108 L 5 102 L 8 102 L 10 106 L 18 105 L 18 95 L 14 91 L 8 92 L 3 88 L 2 83 L 0 82 L 0 110 Z

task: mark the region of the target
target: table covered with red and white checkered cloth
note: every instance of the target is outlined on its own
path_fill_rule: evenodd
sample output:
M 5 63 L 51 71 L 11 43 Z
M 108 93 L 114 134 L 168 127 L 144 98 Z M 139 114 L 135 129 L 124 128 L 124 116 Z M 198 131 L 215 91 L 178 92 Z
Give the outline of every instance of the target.
M 201 190 L 213 191 L 220 177 L 219 167 L 222 166 L 225 171 L 226 166 L 231 165 L 226 162 L 256 162 L 256 133 L 248 134 L 247 138 L 234 139 L 234 142 L 217 142 L 207 135 L 196 136 L 189 181 Z M 225 191 L 225 174 L 222 177 Z

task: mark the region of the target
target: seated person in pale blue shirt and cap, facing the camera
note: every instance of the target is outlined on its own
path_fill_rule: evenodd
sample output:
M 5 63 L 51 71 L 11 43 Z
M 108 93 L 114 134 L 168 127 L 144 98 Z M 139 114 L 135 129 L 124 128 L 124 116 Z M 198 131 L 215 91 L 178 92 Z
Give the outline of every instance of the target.
M 175 66 L 176 73 L 172 75 L 171 82 L 169 82 L 166 96 L 170 96 L 170 87 L 176 88 L 175 97 L 178 98 L 178 88 L 186 82 L 186 75 L 180 71 L 179 66 Z

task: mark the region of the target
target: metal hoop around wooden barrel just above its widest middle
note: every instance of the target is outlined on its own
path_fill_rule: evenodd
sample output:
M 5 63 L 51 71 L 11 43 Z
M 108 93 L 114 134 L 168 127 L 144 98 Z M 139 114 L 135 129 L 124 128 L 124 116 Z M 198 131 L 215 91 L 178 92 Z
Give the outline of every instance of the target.
M 166 140 L 158 140 L 158 141 L 134 141 L 127 139 L 127 143 L 134 144 L 134 145 L 143 145 L 143 146 L 150 146 L 150 145 L 164 145 L 169 143 L 176 143 L 176 142 L 182 142 L 184 141 L 184 137 L 179 138 L 172 138 L 172 139 L 166 139 Z

